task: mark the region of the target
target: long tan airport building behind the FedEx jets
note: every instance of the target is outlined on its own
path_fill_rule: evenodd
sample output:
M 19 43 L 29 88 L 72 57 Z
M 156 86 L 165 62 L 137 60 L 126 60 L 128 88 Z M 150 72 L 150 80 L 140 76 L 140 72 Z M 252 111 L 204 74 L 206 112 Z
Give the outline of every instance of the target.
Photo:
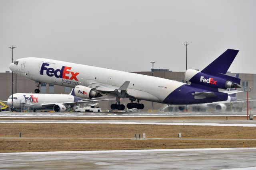
M 151 71 L 145 72 L 134 72 L 136 74 L 144 74 L 148 76 L 152 76 Z M 227 73 L 230 76 L 235 76 L 236 73 Z M 249 92 L 249 98 L 255 98 L 256 92 L 256 74 L 245 74 L 245 73 L 238 73 L 239 78 L 241 79 L 241 88 L 237 90 L 244 91 L 244 88 L 252 88 L 252 91 Z M 179 82 L 184 82 L 184 72 L 174 72 L 168 69 L 154 69 L 154 76 L 160 78 L 166 78 L 170 80 L 175 80 Z M 0 89 L 0 100 L 6 101 L 10 95 L 12 95 L 12 72 L 6 71 L 0 73 L 1 81 L 1 89 Z M 36 83 L 32 80 L 28 80 L 22 76 L 13 74 L 13 93 L 34 93 L 36 89 Z M 64 86 L 57 86 L 53 84 L 44 84 L 42 83 L 40 86 L 40 93 L 45 94 L 69 94 L 72 88 L 64 87 Z M 247 93 L 240 92 L 236 94 L 238 99 L 247 98 Z M 111 98 L 111 97 L 110 97 Z M 130 102 L 128 99 L 122 99 L 121 103 L 126 106 L 126 104 Z M 108 100 L 100 102 L 99 106 L 102 110 L 109 110 L 110 105 L 115 103 L 115 100 Z M 163 108 L 164 104 L 158 104 L 153 102 L 142 102 L 145 105 L 145 108 L 142 111 L 159 111 Z M 250 107 L 250 106 L 249 106 Z

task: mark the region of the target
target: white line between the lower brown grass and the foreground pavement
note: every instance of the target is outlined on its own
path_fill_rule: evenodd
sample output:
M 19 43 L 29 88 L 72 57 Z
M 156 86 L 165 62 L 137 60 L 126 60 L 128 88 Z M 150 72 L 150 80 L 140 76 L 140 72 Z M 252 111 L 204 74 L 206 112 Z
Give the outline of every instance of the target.
M 82 154 L 82 153 L 117 153 L 117 152 L 184 152 L 205 150 L 256 150 L 256 148 L 198 148 L 198 149 L 140 149 L 140 150 L 85 150 L 55 152 L 9 152 L 0 154 Z

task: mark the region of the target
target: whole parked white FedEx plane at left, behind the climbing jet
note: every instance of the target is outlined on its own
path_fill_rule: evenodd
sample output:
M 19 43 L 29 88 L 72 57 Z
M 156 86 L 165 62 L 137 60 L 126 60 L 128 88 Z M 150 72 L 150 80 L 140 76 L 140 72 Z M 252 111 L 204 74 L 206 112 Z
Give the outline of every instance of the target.
M 14 110 L 20 111 L 22 103 L 26 103 L 33 108 L 34 111 L 38 109 L 53 109 L 56 112 L 65 111 L 71 106 L 86 102 L 96 102 L 102 100 L 82 100 L 74 96 L 74 89 L 70 94 L 32 94 L 32 93 L 16 93 L 8 98 L 7 105 L 11 108 L 13 100 Z M 106 100 L 106 99 L 104 99 Z

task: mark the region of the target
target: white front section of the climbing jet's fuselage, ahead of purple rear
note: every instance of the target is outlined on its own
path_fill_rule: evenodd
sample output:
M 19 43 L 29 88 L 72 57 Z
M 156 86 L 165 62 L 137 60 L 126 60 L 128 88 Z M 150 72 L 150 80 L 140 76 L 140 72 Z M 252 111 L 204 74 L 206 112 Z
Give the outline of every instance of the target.
M 92 83 L 101 83 L 116 86 L 118 89 L 125 81 L 130 81 L 127 89 L 129 95 L 152 102 L 162 103 L 171 92 L 184 85 L 182 82 L 164 78 L 51 59 L 23 58 L 17 61 L 18 64 L 10 64 L 11 70 L 36 82 L 72 88 L 77 85 L 89 86 Z M 43 66 L 44 70 L 42 70 L 43 63 L 48 64 Z M 61 71 L 62 75 L 60 75 Z

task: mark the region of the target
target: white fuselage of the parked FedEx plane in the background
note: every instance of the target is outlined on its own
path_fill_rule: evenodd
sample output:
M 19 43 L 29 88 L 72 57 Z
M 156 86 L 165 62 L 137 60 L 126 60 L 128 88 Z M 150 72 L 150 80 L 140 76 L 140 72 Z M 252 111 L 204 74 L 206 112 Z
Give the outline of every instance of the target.
M 74 102 L 74 96 L 70 94 L 13 94 L 13 107 L 18 110 L 21 109 L 22 103 L 30 105 L 33 109 L 52 109 L 52 107 L 44 107 L 42 105 L 68 102 Z M 12 96 L 8 98 L 7 104 L 9 107 L 12 106 Z

